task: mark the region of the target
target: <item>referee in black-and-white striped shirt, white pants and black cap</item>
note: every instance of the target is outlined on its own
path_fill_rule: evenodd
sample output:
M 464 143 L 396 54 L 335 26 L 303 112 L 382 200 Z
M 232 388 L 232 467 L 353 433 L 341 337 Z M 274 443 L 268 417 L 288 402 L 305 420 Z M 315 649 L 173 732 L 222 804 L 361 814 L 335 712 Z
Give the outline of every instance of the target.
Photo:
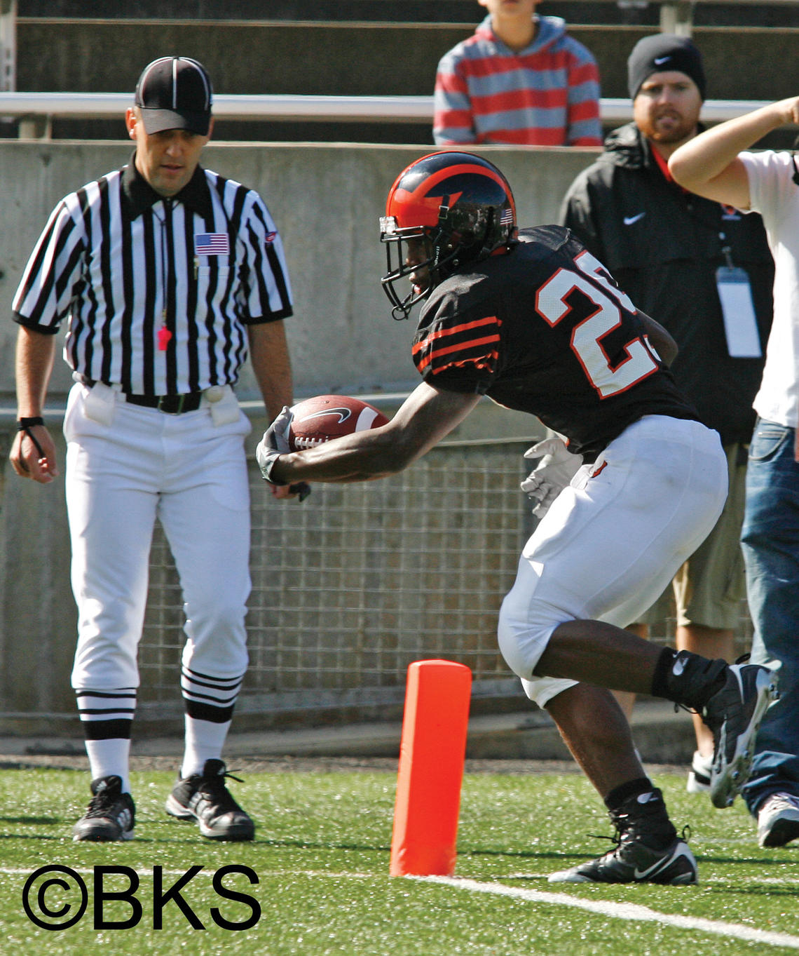
M 166 812 L 211 839 L 247 840 L 254 825 L 221 759 L 248 663 L 249 424 L 232 386 L 249 353 L 270 418 L 292 404 L 282 321 L 292 294 L 262 199 L 199 164 L 213 126 L 204 67 L 182 56 L 150 63 L 125 123 L 130 163 L 55 207 L 14 296 L 11 464 L 42 484 L 58 475 L 42 408 L 66 321 L 72 684 L 93 794 L 75 839 L 134 836 L 130 736 L 159 518 L 186 618 L 184 758 Z

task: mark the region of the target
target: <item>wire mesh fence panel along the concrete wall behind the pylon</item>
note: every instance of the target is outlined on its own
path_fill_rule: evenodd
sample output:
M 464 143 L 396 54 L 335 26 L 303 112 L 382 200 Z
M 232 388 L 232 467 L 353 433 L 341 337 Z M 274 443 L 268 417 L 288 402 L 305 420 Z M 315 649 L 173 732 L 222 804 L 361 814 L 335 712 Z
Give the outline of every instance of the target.
M 279 502 L 253 467 L 250 663 L 237 728 L 397 719 L 409 663 L 466 664 L 486 710 L 529 706 L 496 641 L 532 530 L 528 443 L 443 444 L 400 475 Z M 140 719 L 178 717 L 180 585 L 160 529 L 140 645 Z M 675 622 L 651 626 L 674 640 Z M 740 652 L 751 641 L 742 602 Z

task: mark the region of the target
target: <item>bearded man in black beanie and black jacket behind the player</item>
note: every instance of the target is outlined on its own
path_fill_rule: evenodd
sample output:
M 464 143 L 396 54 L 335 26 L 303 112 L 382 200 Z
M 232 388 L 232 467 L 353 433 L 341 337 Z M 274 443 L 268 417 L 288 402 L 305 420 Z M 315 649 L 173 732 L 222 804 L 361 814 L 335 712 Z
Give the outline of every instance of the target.
M 680 390 L 722 436 L 727 505 L 675 577 L 674 595 L 678 647 L 729 661 L 745 596 L 739 538 L 746 447 L 771 324 L 773 261 L 760 216 L 692 195 L 669 173 L 671 154 L 702 129 L 705 76 L 694 43 L 668 33 L 647 36 L 627 67 L 634 121 L 614 130 L 597 162 L 576 178 L 561 222 L 675 338 L 680 354 L 672 372 Z M 723 307 L 725 278 L 743 283 L 742 299 L 751 293 L 747 308 Z M 631 629 L 645 637 L 668 610 L 666 595 Z M 629 714 L 632 698 L 621 703 Z M 713 754 L 698 718 L 695 730 L 692 793 L 707 789 Z

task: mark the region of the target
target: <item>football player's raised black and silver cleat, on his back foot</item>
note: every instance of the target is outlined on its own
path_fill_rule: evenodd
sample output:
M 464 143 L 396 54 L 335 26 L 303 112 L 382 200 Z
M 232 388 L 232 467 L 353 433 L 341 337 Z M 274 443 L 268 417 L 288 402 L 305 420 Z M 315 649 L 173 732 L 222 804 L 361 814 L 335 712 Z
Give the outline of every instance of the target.
M 733 663 L 726 683 L 703 707 L 702 720 L 713 731 L 715 744 L 710 771 L 714 807 L 732 806 L 744 789 L 760 722 L 777 696 L 777 677 L 767 667 Z

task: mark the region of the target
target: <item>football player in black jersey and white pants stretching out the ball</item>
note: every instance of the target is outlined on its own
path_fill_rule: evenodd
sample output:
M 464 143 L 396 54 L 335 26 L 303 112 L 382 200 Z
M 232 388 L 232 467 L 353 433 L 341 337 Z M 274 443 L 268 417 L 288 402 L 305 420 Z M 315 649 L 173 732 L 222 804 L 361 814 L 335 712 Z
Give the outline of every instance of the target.
M 702 714 L 715 737 L 719 807 L 745 784 L 776 690 L 766 667 L 710 661 L 622 630 L 696 550 L 726 495 L 719 436 L 668 371 L 674 340 L 568 229 L 519 232 L 505 177 L 478 156 L 411 163 L 380 228 L 393 315 L 424 303 L 412 347 L 421 384 L 389 424 L 306 451 L 288 453 L 284 409 L 258 446 L 262 474 L 277 485 L 393 474 L 484 395 L 564 436 L 539 449 L 549 453 L 524 486 L 551 506 L 538 508 L 546 513 L 503 602 L 499 643 L 604 799 L 617 842 L 549 879 L 693 883 L 696 860 L 608 688 Z

